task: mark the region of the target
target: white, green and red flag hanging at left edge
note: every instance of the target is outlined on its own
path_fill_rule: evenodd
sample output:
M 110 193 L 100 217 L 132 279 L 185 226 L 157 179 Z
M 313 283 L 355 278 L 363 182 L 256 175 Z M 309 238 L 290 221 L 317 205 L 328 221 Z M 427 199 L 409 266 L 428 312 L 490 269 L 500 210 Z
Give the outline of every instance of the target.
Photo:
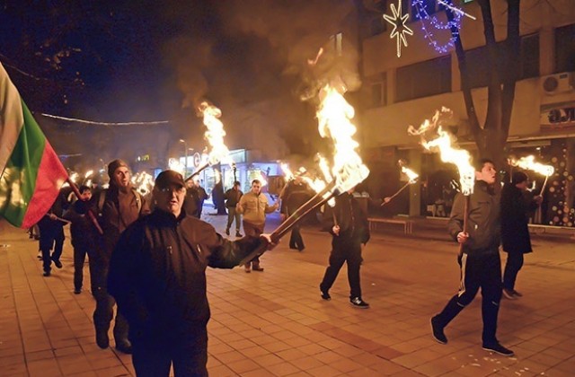
M 21 228 L 38 223 L 67 176 L 0 64 L 0 217 Z

